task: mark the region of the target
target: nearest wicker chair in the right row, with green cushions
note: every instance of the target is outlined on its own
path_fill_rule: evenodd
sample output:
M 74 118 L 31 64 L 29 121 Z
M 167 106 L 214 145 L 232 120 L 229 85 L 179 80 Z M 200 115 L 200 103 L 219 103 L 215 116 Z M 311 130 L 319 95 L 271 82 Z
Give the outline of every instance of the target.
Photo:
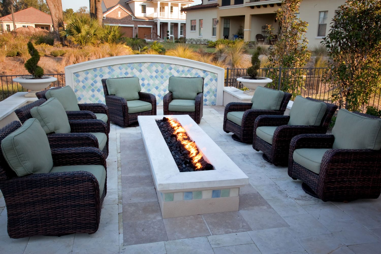
M 340 109 L 332 134 L 303 134 L 290 144 L 288 175 L 323 201 L 378 198 L 381 119 Z

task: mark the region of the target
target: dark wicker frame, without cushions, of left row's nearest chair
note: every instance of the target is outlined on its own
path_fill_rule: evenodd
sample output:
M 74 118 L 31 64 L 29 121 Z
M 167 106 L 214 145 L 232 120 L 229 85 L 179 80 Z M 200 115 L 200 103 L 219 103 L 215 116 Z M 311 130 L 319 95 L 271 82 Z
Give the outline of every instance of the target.
M 13 121 L 0 129 L 0 143 L 20 126 Z M 54 166 L 102 165 L 106 169 L 106 158 L 94 147 L 51 149 L 51 153 Z M 105 183 L 99 195 L 98 181 L 86 171 L 18 177 L 0 147 L 0 189 L 7 209 L 8 235 L 22 238 L 95 233 L 107 187 Z

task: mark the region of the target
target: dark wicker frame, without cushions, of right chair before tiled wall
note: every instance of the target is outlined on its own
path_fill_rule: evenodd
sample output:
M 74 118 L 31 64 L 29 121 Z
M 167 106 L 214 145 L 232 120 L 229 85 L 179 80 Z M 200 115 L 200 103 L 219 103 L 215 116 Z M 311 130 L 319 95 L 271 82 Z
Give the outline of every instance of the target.
M 172 77 L 170 77 L 171 80 Z M 177 78 L 177 77 L 176 77 Z M 184 77 L 186 78 L 186 77 Z M 165 96 L 163 97 L 163 109 L 164 109 L 164 115 L 189 115 L 196 123 L 200 123 L 203 113 L 203 99 L 204 99 L 204 78 L 202 78 L 202 89 L 200 93 L 197 93 L 195 98 L 195 111 L 194 112 L 187 112 L 187 111 L 171 111 L 169 110 L 169 104 L 174 99 L 172 91 L 169 91 Z M 170 81 L 171 82 L 171 81 Z M 168 89 L 169 90 L 169 89 Z

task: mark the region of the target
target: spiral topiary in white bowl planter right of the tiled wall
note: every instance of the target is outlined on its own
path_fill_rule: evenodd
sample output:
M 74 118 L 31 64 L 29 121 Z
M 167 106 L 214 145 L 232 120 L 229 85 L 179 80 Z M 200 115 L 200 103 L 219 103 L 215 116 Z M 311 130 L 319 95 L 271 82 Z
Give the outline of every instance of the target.
M 239 77 L 237 78 L 237 81 L 241 82 L 244 86 L 249 88 L 248 91 L 244 91 L 244 93 L 253 95 L 255 92 L 255 89 L 258 86 L 266 86 L 267 83 L 272 82 L 271 78 L 265 78 L 265 77 L 257 77 L 258 76 L 258 69 L 260 67 L 260 60 L 259 60 L 259 49 L 257 48 L 257 51 L 251 56 L 251 66 L 247 69 L 247 74 L 249 77 Z

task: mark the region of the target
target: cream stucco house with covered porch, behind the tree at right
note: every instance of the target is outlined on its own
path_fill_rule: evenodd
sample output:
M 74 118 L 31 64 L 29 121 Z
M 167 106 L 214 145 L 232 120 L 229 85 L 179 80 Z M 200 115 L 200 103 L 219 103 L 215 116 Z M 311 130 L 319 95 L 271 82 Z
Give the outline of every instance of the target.
M 303 0 L 298 15 L 309 23 L 306 34 L 309 47 L 319 45 L 328 34 L 330 21 L 344 2 Z M 275 32 L 279 29 L 274 11 L 281 5 L 281 0 L 203 0 L 200 5 L 182 8 L 187 14 L 187 38 L 233 39 L 242 29 L 245 41 L 256 41 L 256 35 L 260 34 L 268 43 L 266 25 L 272 25 Z

